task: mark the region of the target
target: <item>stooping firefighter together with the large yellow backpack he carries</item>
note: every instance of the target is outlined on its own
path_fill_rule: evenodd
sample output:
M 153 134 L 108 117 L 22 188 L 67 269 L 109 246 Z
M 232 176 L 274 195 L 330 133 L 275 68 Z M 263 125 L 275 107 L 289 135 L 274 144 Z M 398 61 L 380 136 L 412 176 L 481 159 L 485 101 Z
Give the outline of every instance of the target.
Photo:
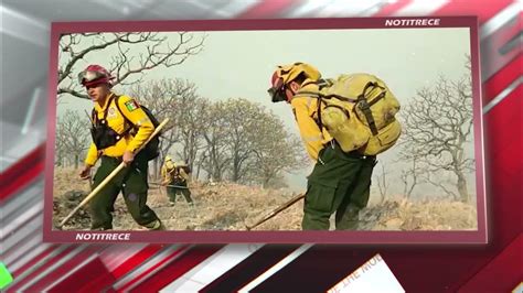
M 322 79 L 305 63 L 277 66 L 268 93 L 273 102 L 292 108 L 300 137 L 316 161 L 308 176 L 303 230 L 357 229 L 367 205 L 376 154 L 395 144 L 399 104 L 386 85 L 370 74 Z

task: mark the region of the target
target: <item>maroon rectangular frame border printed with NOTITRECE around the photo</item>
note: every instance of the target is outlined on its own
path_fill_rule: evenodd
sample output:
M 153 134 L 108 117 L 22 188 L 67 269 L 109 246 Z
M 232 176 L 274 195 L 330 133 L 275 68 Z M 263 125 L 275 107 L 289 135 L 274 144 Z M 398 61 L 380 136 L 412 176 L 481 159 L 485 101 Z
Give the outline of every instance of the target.
M 433 20 L 439 25 L 385 26 L 386 20 Z M 53 173 L 56 128 L 56 91 L 58 37 L 62 33 L 79 32 L 142 32 L 142 31 L 249 31 L 249 30 L 321 30 L 321 29 L 430 29 L 468 28 L 472 69 L 474 159 L 477 184 L 478 230 L 473 231 L 61 231 L 52 229 Z M 488 243 L 487 205 L 484 186 L 483 117 L 480 84 L 479 35 L 477 17 L 405 17 L 350 19 L 278 19 L 278 20 L 194 20 L 194 21 L 103 21 L 54 22 L 51 29 L 49 67 L 47 141 L 45 145 L 45 194 L 43 241 L 52 243 L 82 242 L 149 242 L 149 243 L 380 243 L 380 245 L 437 245 Z M 89 240 L 77 240 L 78 237 Z M 102 238 L 102 239 L 99 239 Z M 125 238 L 126 240 L 117 240 Z M 113 240 L 115 239 L 115 240 Z

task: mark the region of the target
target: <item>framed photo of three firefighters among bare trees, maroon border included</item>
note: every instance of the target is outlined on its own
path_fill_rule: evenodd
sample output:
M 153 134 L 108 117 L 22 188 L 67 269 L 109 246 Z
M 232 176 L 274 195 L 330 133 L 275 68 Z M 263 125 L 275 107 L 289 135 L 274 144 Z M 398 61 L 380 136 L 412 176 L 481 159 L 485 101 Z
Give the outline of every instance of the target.
M 220 21 L 199 30 L 55 26 L 47 232 L 72 232 L 70 240 L 92 229 L 139 232 L 143 241 L 158 231 L 162 241 L 299 231 L 296 241 L 312 230 L 343 234 L 341 242 L 348 231 L 484 238 L 471 20 L 453 28 L 385 28 L 383 19 L 365 29 L 349 20 L 321 29 L 300 20 L 270 30 L 256 21 L 227 30 Z M 105 78 L 93 65 L 108 72 L 108 91 L 86 87 Z M 293 70 L 317 91 L 291 88 Z M 136 155 L 104 182 L 129 145 L 147 140 L 122 134 L 151 120 L 143 106 L 159 123 L 169 119 L 158 156 Z M 103 117 L 121 138 L 97 153 L 92 129 Z M 86 162 L 92 176 L 82 180 Z

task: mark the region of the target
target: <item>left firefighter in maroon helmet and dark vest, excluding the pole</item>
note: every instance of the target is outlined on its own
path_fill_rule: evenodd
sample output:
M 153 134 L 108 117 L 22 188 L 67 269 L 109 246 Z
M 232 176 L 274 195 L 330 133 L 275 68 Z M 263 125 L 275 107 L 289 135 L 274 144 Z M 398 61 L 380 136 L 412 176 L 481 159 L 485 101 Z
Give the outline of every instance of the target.
M 111 91 L 111 76 L 104 67 L 89 65 L 78 75 L 78 79 L 94 101 L 93 143 L 81 177 L 89 178 L 92 167 L 100 160 L 93 180 L 95 188 L 121 162 L 126 164 L 126 167 L 89 202 L 90 229 L 113 229 L 111 211 L 120 191 L 127 209 L 137 224 L 150 230 L 164 229 L 156 213 L 147 205 L 148 159 L 145 152 L 135 155 L 135 151 L 154 131 L 154 126 L 132 98 L 117 96 Z

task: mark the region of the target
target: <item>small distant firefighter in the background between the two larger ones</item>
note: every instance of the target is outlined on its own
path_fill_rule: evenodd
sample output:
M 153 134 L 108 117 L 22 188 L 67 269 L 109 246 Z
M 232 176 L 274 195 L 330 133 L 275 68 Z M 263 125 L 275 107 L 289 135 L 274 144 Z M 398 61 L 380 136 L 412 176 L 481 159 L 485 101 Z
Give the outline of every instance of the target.
M 161 169 L 162 175 L 162 185 L 167 188 L 167 194 L 171 205 L 177 203 L 177 195 L 181 193 L 185 197 L 191 206 L 193 206 L 193 200 L 191 198 L 191 191 L 189 189 L 189 167 L 186 164 L 175 164 L 172 162 L 171 156 L 166 156 L 166 162 Z

